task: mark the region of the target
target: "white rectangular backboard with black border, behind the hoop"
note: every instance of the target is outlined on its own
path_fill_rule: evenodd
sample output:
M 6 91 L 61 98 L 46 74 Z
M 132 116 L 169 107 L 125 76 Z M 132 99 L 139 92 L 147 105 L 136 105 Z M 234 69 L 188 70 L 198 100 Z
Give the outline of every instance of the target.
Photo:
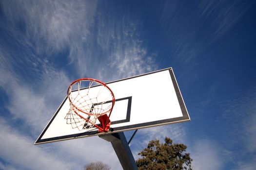
M 110 117 L 112 131 L 107 134 L 190 120 L 172 68 L 106 85 L 116 98 Z M 66 97 L 35 144 L 106 134 L 99 133 L 97 128 L 73 129 L 64 119 L 69 106 Z

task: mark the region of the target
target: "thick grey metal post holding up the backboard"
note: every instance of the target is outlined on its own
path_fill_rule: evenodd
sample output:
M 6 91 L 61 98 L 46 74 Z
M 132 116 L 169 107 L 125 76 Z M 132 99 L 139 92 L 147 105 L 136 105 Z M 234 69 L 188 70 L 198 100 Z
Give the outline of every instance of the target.
M 138 170 L 133 154 L 123 132 L 99 135 L 99 137 L 111 142 L 123 170 Z

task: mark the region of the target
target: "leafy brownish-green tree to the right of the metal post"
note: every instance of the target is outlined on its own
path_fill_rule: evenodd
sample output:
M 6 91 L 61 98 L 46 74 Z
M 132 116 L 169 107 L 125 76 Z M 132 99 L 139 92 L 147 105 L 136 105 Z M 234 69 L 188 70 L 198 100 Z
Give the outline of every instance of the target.
M 165 137 L 165 143 L 159 140 L 151 140 L 148 147 L 138 155 L 136 163 L 139 170 L 192 170 L 189 153 L 184 153 L 187 146 L 184 144 L 173 144 L 169 137 Z

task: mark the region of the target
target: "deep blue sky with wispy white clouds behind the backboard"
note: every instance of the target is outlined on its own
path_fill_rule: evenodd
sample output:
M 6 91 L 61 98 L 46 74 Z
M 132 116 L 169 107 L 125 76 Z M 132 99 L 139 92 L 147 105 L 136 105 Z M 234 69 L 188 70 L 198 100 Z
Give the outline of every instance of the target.
M 134 157 L 169 136 L 188 146 L 195 170 L 254 170 L 255 8 L 254 0 L 0 0 L 0 169 L 93 161 L 120 169 L 97 136 L 34 141 L 74 80 L 172 67 L 191 121 L 139 130 Z

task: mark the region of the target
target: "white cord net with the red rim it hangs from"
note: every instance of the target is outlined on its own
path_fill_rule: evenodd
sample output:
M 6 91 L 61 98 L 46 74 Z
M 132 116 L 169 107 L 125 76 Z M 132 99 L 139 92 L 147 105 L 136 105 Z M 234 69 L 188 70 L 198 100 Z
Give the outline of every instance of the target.
M 89 85 L 87 88 L 87 93 L 84 96 L 82 96 L 80 94 L 81 84 L 82 82 L 88 82 L 88 81 L 89 81 Z M 78 83 L 78 86 L 77 86 L 78 89 L 72 91 L 72 86 L 75 85 L 76 83 Z M 94 86 L 94 84 L 100 85 L 100 88 L 98 90 L 97 96 L 95 98 L 90 98 L 89 97 L 90 89 L 92 86 Z M 107 90 L 109 92 L 109 95 L 105 98 L 103 102 L 99 102 L 98 97 L 103 93 L 104 90 Z M 73 94 L 72 92 L 74 91 L 77 92 L 76 96 L 72 95 Z M 96 124 L 96 121 L 99 116 L 107 113 L 109 113 L 109 116 L 108 116 L 108 119 L 109 119 L 111 112 L 113 110 L 113 106 L 115 104 L 115 97 L 112 90 L 107 85 L 105 85 L 104 83 L 98 80 L 84 78 L 84 79 L 79 79 L 73 82 L 69 86 L 67 94 L 68 94 L 68 99 L 70 101 L 70 109 L 65 117 L 67 124 L 71 124 L 72 128 L 78 128 L 79 130 L 90 129 L 92 127 L 97 127 L 98 129 L 103 130 L 101 127 L 99 127 Z M 88 99 L 86 99 L 87 97 Z M 103 108 L 103 104 L 108 102 L 109 99 L 111 99 L 112 102 L 110 102 L 110 105 L 108 105 L 106 108 Z M 96 103 L 93 100 L 96 100 Z M 82 116 L 80 113 L 87 114 L 88 115 L 87 118 Z M 105 126 L 106 124 L 103 127 Z

